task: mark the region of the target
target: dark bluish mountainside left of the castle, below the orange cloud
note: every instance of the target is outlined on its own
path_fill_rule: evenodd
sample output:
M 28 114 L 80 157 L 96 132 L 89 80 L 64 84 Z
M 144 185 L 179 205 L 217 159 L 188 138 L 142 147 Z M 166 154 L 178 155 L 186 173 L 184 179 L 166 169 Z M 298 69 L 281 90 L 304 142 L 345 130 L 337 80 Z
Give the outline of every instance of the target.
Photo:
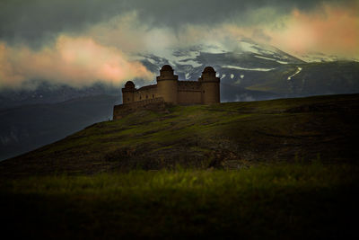
M 0 160 L 16 156 L 109 120 L 118 97 L 88 96 L 66 102 L 0 110 Z

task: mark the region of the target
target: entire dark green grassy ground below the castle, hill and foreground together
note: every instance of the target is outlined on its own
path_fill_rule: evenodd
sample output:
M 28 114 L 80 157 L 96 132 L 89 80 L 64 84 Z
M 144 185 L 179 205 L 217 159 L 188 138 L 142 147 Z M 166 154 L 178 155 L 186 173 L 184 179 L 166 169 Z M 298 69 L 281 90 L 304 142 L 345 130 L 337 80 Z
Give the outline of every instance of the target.
M 168 105 L 93 124 L 0 163 L 3 234 L 350 238 L 358 110 L 359 94 L 329 95 Z

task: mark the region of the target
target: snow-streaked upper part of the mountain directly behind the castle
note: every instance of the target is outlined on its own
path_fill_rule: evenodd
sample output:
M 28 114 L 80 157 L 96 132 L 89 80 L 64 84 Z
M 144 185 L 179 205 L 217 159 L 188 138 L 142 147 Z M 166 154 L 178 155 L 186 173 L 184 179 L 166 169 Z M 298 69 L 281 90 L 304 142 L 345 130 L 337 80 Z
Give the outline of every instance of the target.
M 200 45 L 188 49 L 166 49 L 162 54 L 149 53 L 140 56 L 149 70 L 158 72 L 162 65 L 170 64 L 181 79 L 197 79 L 208 65 L 215 67 L 219 76 L 231 78 L 233 75 L 233 79 L 234 76 L 241 76 L 246 72 L 267 72 L 287 64 L 304 63 L 280 49 L 259 45 L 252 40 L 239 40 L 238 45 L 231 51 L 215 45 Z

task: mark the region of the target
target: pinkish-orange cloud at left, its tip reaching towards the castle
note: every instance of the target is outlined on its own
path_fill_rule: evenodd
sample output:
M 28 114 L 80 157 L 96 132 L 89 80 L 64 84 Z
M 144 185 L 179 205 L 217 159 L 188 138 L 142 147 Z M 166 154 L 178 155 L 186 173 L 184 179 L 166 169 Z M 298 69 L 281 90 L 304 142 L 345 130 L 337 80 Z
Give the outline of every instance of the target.
M 60 36 L 53 47 L 39 51 L 0 42 L 0 87 L 19 86 L 31 78 L 81 86 L 99 80 L 122 84 L 136 77 L 152 80 L 153 74 L 119 49 L 91 38 Z

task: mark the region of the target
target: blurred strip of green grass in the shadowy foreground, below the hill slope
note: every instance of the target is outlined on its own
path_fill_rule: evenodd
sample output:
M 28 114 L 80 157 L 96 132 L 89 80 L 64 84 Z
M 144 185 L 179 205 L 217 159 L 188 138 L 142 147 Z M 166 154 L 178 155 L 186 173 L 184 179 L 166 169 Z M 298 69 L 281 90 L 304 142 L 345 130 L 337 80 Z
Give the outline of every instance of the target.
M 52 238 L 325 238 L 354 231 L 358 167 L 48 176 L 0 183 L 4 229 Z

